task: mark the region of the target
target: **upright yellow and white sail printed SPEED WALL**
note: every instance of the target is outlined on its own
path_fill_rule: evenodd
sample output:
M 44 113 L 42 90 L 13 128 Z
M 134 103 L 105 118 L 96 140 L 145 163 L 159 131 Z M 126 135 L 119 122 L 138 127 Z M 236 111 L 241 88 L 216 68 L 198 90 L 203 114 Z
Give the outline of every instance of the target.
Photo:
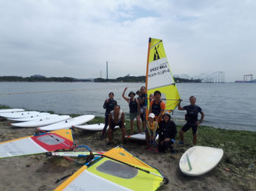
M 162 40 L 149 38 L 148 62 L 146 74 L 146 93 L 148 97 L 148 110 L 150 95 L 156 90 L 162 93 L 162 100 L 165 101 L 166 111 L 172 112 L 179 104 L 180 97 L 173 74 L 170 71 L 165 48 Z M 147 115 L 148 116 L 148 113 Z

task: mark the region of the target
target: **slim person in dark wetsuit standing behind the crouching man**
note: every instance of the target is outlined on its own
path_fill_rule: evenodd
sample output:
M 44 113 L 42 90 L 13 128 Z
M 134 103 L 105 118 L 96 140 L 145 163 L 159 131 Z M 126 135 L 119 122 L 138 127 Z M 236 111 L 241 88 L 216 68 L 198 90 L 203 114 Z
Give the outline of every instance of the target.
M 103 108 L 105 109 L 105 126 L 103 128 L 102 139 L 105 137 L 105 131 L 108 127 L 108 115 L 114 109 L 114 106 L 117 105 L 117 101 L 114 100 L 114 93 L 108 93 L 108 99 L 105 100 Z

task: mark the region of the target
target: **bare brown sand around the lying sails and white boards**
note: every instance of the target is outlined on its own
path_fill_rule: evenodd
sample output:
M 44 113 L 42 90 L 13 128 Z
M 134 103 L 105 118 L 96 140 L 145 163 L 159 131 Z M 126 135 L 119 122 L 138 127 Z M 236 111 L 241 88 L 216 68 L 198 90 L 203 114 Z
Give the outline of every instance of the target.
M 5 119 L 0 121 L 1 142 L 34 134 L 34 128 L 13 128 L 9 123 L 10 121 Z M 121 144 L 118 131 L 114 133 L 115 144 L 110 146 L 105 144 L 107 140 L 100 140 L 100 132 L 75 129 L 73 138 L 76 145 L 88 145 L 92 151 L 108 151 Z M 145 150 L 143 142 L 137 141 L 128 141 L 122 146 L 139 159 L 158 168 L 169 179 L 170 183 L 163 185 L 159 190 L 241 190 L 239 184 L 221 179 L 223 176 L 232 179 L 232 172 L 225 171 L 221 163 L 204 176 L 190 177 L 182 174 L 179 170 L 179 159 L 187 150 L 187 146 L 176 145 L 176 154 L 155 154 Z M 0 159 L 0 164 L 0 190 L 54 190 L 63 182 L 55 184 L 57 179 L 80 168 L 80 165 L 74 162 L 47 157 L 45 154 Z

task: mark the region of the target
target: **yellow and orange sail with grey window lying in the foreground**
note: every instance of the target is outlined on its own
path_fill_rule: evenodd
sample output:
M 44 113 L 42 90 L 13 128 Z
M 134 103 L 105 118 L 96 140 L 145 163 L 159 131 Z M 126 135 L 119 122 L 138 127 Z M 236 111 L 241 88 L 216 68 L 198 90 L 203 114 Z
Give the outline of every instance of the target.
M 117 147 L 81 167 L 56 190 L 157 190 L 165 183 L 159 170 Z

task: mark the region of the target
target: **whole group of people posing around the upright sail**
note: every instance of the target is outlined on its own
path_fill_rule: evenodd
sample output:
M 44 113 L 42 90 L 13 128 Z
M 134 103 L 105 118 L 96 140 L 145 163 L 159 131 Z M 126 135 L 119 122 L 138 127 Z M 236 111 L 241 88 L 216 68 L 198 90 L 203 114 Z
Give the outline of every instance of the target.
M 147 112 L 147 95 L 145 93 L 145 87 L 142 86 L 136 93 L 131 91 L 128 93 L 128 97 L 125 96 L 125 92 L 128 87 L 122 93 L 122 98 L 128 102 L 129 105 L 129 118 L 131 121 L 131 134 L 134 134 L 134 119 L 136 118 L 136 126 L 139 133 L 145 132 L 146 148 L 149 151 L 165 152 L 167 148 L 173 150 L 173 143 L 176 143 L 177 128 L 176 124 L 171 120 L 169 112 L 165 112 L 165 102 L 161 99 L 161 92 L 156 90 L 153 95 L 150 96 L 150 108 Z M 138 95 L 137 98 L 135 96 Z M 111 144 L 113 131 L 116 126 L 119 126 L 122 131 L 122 141 L 125 142 L 125 113 L 121 110 L 120 105 L 114 100 L 114 93 L 109 93 L 108 98 L 103 104 L 105 109 L 105 126 L 102 132 L 102 138 L 105 134 L 108 135 L 108 145 Z M 182 129 L 179 131 L 180 142 L 184 144 L 184 132 L 192 128 L 193 131 L 193 143 L 196 145 L 197 141 L 197 129 L 198 125 L 204 120 L 204 112 L 201 107 L 196 105 L 196 97 L 190 96 L 190 105 L 181 107 L 179 102 L 179 110 L 186 110 L 185 120 Z M 201 114 L 200 120 L 198 120 L 198 113 Z M 148 117 L 148 118 L 147 118 Z M 107 127 L 108 131 L 106 131 Z M 156 137 L 159 137 L 158 144 L 156 143 Z

